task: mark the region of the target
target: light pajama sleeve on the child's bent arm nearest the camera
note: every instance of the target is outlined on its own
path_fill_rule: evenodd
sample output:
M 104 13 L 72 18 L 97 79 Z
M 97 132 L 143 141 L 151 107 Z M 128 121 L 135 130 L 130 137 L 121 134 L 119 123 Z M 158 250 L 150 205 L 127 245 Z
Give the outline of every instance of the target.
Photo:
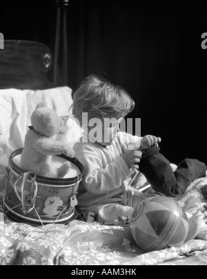
M 77 159 L 84 166 L 81 183 L 88 193 L 100 195 L 118 189 L 130 174 L 123 157 L 118 157 L 103 168 L 101 157 L 93 146 L 85 146 L 84 150 L 75 146 L 75 152 Z

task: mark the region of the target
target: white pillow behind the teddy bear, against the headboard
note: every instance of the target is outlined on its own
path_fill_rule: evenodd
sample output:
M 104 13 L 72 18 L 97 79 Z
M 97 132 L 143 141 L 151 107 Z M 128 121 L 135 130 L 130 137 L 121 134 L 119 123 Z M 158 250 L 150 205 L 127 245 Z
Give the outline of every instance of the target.
M 5 173 L 12 151 L 23 147 L 30 117 L 39 102 L 47 102 L 60 117 L 68 117 L 72 90 L 67 86 L 46 90 L 0 90 L 0 148 L 4 151 L 0 155 L 0 174 Z

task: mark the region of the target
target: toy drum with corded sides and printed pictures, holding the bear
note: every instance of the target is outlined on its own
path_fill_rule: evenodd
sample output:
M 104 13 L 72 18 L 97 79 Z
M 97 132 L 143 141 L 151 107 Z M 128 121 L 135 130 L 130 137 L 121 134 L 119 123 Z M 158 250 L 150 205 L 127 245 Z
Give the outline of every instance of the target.
M 23 148 L 10 155 L 6 182 L 4 213 L 16 222 L 34 226 L 66 224 L 75 218 L 77 191 L 82 179 L 83 165 L 66 155 L 52 157 L 52 164 L 60 166 L 66 160 L 71 168 L 64 178 L 50 178 L 25 173 L 19 162 Z

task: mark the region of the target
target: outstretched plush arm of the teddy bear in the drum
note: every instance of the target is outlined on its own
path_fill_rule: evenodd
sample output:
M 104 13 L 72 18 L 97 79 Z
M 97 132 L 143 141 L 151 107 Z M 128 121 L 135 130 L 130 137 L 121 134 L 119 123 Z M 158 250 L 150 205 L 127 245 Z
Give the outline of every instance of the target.
M 61 153 L 71 155 L 69 153 L 72 153 L 72 148 L 68 142 L 55 142 L 48 138 L 39 139 L 37 142 L 34 142 L 34 148 L 43 155 L 59 155 Z

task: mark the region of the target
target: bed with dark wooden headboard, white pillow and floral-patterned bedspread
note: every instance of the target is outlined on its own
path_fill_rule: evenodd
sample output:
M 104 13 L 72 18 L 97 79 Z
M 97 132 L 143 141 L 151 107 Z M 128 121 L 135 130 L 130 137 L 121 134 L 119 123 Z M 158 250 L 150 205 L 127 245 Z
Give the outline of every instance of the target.
M 3 214 L 8 159 L 12 151 L 23 147 L 30 115 L 37 102 L 48 102 L 60 116 L 69 117 L 72 89 L 67 81 L 68 3 L 66 0 L 57 1 L 53 67 L 50 49 L 38 42 L 5 41 L 5 49 L 0 50 L 0 264 L 104 265 L 104 272 L 106 266 L 115 265 L 122 266 L 122 269 L 123 266 L 137 265 L 206 265 L 205 237 L 190 240 L 180 247 L 144 253 L 135 244 L 130 227 L 103 226 L 97 222 L 83 222 L 79 218 L 68 224 L 32 227 L 14 222 Z M 48 79 L 51 68 L 54 70 L 53 81 Z M 70 124 L 68 122 L 68 126 Z M 79 138 L 81 132 L 77 134 L 78 127 L 70 128 Z M 176 169 L 173 164 L 172 167 Z M 207 200 L 201 189 L 206 184 L 207 175 L 195 180 L 183 195 L 176 198 L 189 213 L 200 211 L 204 220 L 207 218 Z M 144 186 L 148 188 L 146 195 L 151 195 L 150 185 L 140 174 L 136 188 Z

